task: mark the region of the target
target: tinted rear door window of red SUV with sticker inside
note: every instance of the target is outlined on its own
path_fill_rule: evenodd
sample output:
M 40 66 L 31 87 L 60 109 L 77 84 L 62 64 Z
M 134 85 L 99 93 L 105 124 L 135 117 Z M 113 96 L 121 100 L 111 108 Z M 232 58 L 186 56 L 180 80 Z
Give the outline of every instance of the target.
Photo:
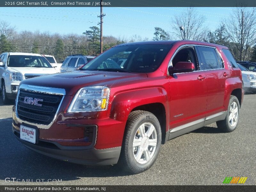
M 220 63 L 214 48 L 198 46 L 204 70 L 219 69 Z

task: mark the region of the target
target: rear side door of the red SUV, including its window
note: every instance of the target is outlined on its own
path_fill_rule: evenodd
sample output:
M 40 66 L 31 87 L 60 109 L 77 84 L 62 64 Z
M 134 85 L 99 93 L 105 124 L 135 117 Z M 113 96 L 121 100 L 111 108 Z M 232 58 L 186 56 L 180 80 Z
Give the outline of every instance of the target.
M 197 50 L 206 75 L 206 117 L 208 117 L 224 110 L 225 81 L 230 74 L 224 68 L 224 63 L 216 47 L 198 45 Z

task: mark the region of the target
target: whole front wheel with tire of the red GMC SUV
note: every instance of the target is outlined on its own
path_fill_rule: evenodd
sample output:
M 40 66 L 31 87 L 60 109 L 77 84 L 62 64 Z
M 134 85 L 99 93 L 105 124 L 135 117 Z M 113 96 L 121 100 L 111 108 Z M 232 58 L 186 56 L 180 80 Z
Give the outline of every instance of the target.
M 126 123 L 119 165 L 135 174 L 148 170 L 156 161 L 161 140 L 156 116 L 148 111 L 133 111 Z

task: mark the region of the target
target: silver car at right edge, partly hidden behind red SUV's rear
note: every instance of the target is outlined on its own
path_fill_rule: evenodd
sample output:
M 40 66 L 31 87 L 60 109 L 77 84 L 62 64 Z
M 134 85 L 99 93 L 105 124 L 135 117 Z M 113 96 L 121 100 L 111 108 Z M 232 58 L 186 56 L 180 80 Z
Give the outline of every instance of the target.
M 238 64 L 242 71 L 243 87 L 246 93 L 256 92 L 256 72 L 249 71 L 247 68 Z

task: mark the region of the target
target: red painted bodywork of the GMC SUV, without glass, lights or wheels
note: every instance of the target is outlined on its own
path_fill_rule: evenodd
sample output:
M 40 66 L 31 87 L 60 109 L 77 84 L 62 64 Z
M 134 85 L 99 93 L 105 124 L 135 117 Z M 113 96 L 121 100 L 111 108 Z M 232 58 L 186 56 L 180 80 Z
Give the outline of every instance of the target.
M 221 51 L 222 48 L 227 49 L 227 47 L 196 41 L 154 41 L 133 44 L 172 44 L 172 48 L 160 67 L 148 74 L 77 71 L 31 78 L 21 82 L 21 84 L 66 90 L 55 122 L 49 129 L 40 129 L 40 139 L 56 141 L 64 146 L 88 146 L 90 142 L 81 140 L 84 136 L 83 128 L 68 127 L 67 124 L 93 124 L 98 127 L 94 148 L 120 147 L 128 115 L 141 105 L 151 103 L 163 105 L 167 125 L 165 131 L 168 132 L 174 127 L 226 111 L 230 94 L 235 89 L 241 90 L 243 100 L 241 71 L 230 67 Z M 173 54 L 184 44 L 216 47 L 225 63 L 225 68 L 167 75 L 168 64 Z M 223 76 L 224 72 L 228 76 Z M 198 79 L 198 77 L 205 78 Z M 93 85 L 110 88 L 108 109 L 99 112 L 68 113 L 68 106 L 76 92 L 85 86 Z M 15 113 L 13 116 L 15 121 Z M 18 123 L 15 125 L 17 129 L 19 126 Z

